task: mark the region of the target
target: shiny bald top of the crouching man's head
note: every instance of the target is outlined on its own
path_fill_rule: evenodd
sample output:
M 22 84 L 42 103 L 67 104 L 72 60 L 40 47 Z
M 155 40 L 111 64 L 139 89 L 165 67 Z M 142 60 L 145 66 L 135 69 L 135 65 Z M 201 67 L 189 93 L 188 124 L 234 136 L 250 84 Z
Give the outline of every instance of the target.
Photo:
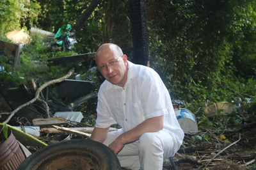
M 97 50 L 96 54 L 95 54 L 95 61 L 97 63 L 97 58 L 102 55 L 102 54 L 106 54 L 106 53 L 113 53 L 114 56 L 122 56 L 124 55 L 124 53 L 122 52 L 122 49 L 120 49 L 120 47 L 114 43 L 104 43 L 103 45 L 101 45 L 99 47 L 99 49 Z

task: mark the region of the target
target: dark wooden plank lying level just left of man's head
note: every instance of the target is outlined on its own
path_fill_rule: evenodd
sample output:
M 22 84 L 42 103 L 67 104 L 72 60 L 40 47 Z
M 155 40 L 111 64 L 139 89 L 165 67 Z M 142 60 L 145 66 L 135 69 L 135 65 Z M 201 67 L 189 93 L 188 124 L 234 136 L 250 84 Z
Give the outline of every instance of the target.
M 70 63 L 82 63 L 85 61 L 92 61 L 95 59 L 95 54 L 96 52 L 91 52 L 75 56 L 67 56 L 63 58 L 52 58 L 47 60 L 49 62 L 47 66 L 67 65 Z

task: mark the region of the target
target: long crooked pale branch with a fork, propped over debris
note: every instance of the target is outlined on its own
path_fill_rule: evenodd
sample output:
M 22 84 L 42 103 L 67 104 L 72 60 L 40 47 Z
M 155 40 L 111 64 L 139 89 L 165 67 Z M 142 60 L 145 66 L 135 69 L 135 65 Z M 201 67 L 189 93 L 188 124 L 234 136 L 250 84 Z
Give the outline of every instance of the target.
M 60 79 L 55 79 L 55 80 L 52 80 L 52 81 L 49 81 L 49 82 L 45 82 L 45 84 L 43 84 L 42 86 L 40 86 L 40 88 L 38 88 L 36 90 L 36 94 L 35 94 L 35 98 L 33 98 L 32 100 L 30 100 L 29 102 L 27 102 L 26 104 L 22 104 L 20 105 L 19 107 L 17 107 L 14 111 L 11 112 L 10 116 L 3 122 L 3 123 L 8 123 L 10 121 L 10 119 L 14 116 L 14 114 L 16 112 L 18 112 L 20 109 L 22 109 L 23 107 L 26 107 L 28 106 L 29 104 L 33 104 L 34 102 L 36 101 L 40 101 L 40 98 L 39 98 L 39 95 L 40 95 L 40 92 L 46 88 L 47 86 L 51 85 L 51 84 L 55 84 L 56 82 L 61 82 L 61 81 L 64 81 L 65 79 L 67 79 L 68 77 L 70 77 L 70 75 L 72 75 L 74 73 L 74 68 L 70 69 L 69 72 L 64 75 L 63 77 L 61 77 Z M 46 103 L 45 103 L 46 104 Z M 46 104 L 47 105 L 47 104 Z M 47 106 L 48 108 L 48 106 Z M 49 109 L 47 109 L 49 110 Z M 47 114 L 49 116 L 49 111 L 47 111 Z

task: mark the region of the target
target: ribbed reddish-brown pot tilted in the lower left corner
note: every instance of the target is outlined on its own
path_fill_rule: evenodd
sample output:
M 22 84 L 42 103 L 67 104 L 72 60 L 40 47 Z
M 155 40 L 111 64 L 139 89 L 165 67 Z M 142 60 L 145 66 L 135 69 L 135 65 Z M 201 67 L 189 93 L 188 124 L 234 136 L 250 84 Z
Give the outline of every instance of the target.
M 0 170 L 16 170 L 25 159 L 12 131 L 8 130 L 8 134 L 8 140 L 0 144 Z M 4 140 L 3 133 L 0 135 L 1 140 Z

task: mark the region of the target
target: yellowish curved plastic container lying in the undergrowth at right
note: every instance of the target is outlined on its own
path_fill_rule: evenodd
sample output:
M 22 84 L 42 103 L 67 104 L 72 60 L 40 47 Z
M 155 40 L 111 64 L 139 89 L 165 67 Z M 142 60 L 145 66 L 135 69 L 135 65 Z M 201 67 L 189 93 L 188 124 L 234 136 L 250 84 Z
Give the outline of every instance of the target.
M 218 102 L 216 104 L 205 107 L 204 113 L 206 116 L 214 116 L 214 114 L 216 114 L 216 109 L 223 109 L 223 111 L 221 111 L 220 114 L 226 112 L 231 113 L 233 111 L 236 112 L 236 105 L 229 102 Z

